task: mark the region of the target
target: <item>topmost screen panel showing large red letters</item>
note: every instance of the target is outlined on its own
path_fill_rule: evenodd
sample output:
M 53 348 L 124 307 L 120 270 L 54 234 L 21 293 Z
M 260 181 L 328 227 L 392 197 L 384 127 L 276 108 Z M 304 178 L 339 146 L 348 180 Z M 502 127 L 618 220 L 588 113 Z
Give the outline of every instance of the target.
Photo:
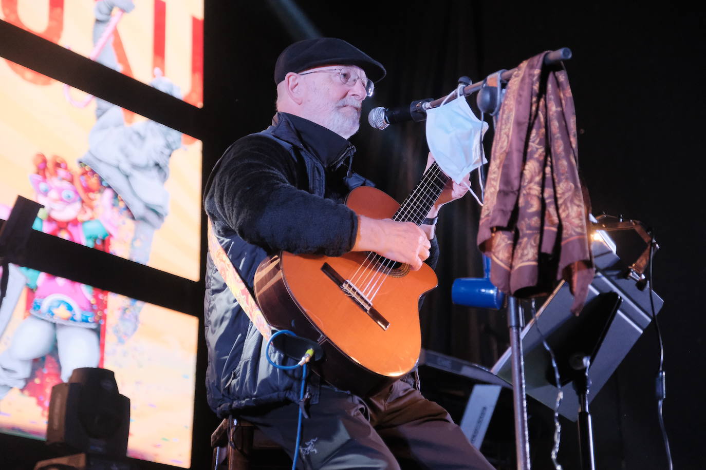
M 0 20 L 141 82 L 167 76 L 183 90 L 179 98 L 203 106 L 203 0 L 3 0 Z M 49 80 L 11 68 L 37 85 Z

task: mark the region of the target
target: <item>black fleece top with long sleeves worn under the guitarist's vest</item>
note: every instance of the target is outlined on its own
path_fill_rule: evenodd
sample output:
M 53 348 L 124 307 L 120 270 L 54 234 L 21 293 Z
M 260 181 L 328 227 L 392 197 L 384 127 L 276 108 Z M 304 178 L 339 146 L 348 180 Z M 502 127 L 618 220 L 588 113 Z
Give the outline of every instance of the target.
M 325 197 L 310 194 L 306 168 L 297 165 L 278 142 L 248 135 L 230 147 L 213 175 L 205 209 L 217 232 L 234 231 L 239 237 L 268 253 L 280 250 L 295 254 L 340 256 L 354 245 L 358 230 L 356 214 L 343 201 L 347 165 L 337 157 L 349 142 L 304 118 L 278 113 L 275 120 L 292 130 L 326 168 Z M 348 163 L 347 161 L 343 163 Z M 430 259 L 438 256 L 436 239 Z

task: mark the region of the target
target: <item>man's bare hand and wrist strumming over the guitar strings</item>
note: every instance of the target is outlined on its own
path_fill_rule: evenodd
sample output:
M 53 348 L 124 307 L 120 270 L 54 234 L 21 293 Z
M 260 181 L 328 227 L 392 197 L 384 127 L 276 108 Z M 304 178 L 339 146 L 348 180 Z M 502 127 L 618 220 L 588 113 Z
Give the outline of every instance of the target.
M 385 258 L 409 264 L 414 271 L 429 258 L 429 238 L 412 222 L 397 222 L 358 216 L 358 234 L 352 251 L 376 252 Z

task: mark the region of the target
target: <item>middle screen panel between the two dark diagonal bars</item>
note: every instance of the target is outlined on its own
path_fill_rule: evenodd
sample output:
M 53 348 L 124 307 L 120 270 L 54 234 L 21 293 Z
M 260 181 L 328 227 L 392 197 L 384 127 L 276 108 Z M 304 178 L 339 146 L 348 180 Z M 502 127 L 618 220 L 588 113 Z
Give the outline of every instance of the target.
M 201 141 L 5 59 L 0 83 L 0 218 L 20 194 L 37 230 L 198 280 Z

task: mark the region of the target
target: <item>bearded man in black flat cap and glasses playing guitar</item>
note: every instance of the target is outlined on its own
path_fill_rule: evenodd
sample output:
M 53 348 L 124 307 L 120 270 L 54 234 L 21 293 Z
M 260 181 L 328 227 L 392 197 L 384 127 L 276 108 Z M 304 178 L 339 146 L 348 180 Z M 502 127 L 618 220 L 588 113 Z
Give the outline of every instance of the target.
M 277 58 L 273 125 L 227 149 L 204 203 L 218 242 L 250 290 L 258 264 L 280 250 L 371 251 L 413 269 L 436 258 L 433 222 L 441 205 L 465 193 L 461 185 L 445 187 L 421 228 L 357 215 L 342 204 L 353 187 L 370 184 L 350 171 L 354 147 L 347 139 L 358 130 L 361 102 L 384 75 L 381 63 L 341 39 L 306 39 Z M 298 376 L 268 363 L 261 333 L 210 256 L 205 328 L 210 406 L 219 416 L 255 423 L 292 454 Z M 415 377 L 357 397 L 311 374 L 299 447 L 305 467 L 491 469 L 448 413 L 421 396 Z

